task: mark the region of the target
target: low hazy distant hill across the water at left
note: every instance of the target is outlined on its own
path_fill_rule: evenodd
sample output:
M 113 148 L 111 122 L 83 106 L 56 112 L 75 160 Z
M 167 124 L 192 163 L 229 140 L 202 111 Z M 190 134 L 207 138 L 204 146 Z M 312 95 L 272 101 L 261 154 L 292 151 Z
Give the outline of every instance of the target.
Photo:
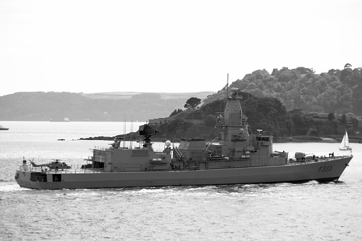
M 190 97 L 204 100 L 213 93 L 16 92 L 0 97 L 0 120 L 49 121 L 68 117 L 71 122 L 146 122 L 169 117 L 174 109 L 183 108 Z

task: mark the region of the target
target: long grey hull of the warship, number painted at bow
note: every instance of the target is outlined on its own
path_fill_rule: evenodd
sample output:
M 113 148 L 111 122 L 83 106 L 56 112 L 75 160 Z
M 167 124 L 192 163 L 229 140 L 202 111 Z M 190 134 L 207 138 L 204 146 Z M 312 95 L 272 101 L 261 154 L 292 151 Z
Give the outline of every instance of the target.
M 67 170 L 46 173 L 46 181 L 31 181 L 31 171 L 16 171 L 19 186 L 35 189 L 124 188 L 154 186 L 201 186 L 245 183 L 280 183 L 337 180 L 352 156 L 307 163 L 250 168 L 195 171 L 82 172 Z M 75 173 L 76 172 L 76 173 Z M 57 177 L 58 180 L 54 178 Z

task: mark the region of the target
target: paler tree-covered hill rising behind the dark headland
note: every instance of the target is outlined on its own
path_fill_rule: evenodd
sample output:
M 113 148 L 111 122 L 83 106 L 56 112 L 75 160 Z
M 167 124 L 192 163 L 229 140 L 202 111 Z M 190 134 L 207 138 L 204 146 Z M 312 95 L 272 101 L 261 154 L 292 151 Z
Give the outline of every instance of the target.
M 337 114 L 362 114 L 362 68 L 331 69 L 315 74 L 314 70 L 299 67 L 289 70 L 255 70 L 236 80 L 230 87 L 238 87 L 256 97 L 275 97 L 288 110 L 302 109 L 305 112 L 334 112 Z M 220 100 L 226 89 L 210 95 L 204 103 Z

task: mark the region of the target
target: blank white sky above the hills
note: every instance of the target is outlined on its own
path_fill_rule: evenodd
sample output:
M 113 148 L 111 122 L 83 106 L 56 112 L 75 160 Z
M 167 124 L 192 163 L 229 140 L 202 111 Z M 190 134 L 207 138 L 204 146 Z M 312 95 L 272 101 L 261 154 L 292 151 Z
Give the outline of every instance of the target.
M 362 1 L 0 1 L 0 96 L 218 91 L 362 67 Z

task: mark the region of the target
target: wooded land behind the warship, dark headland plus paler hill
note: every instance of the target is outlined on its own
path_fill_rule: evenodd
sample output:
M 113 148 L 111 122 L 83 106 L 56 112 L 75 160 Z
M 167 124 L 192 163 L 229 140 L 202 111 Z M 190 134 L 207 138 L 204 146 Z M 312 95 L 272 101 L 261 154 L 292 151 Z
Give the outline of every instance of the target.
M 255 70 L 230 87 L 243 91 L 240 104 L 248 117 L 250 129 L 264 129 L 274 136 L 331 136 L 361 132 L 362 68 L 329 70 L 317 75 L 309 68 Z M 229 89 L 230 90 L 230 89 Z M 213 131 L 215 112 L 223 112 L 226 87 L 203 101 L 194 111 L 172 116 L 169 124 L 161 124 L 160 133 L 174 138 L 206 138 Z M 202 119 L 204 125 L 187 121 Z M 186 121 L 185 121 L 186 120 Z

